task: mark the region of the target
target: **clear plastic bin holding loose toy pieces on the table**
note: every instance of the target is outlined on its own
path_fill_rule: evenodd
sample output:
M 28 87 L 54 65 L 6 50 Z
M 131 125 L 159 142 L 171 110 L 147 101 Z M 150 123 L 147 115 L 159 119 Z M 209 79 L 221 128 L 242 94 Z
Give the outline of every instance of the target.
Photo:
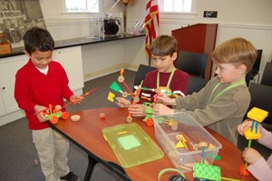
M 153 116 L 153 118 L 155 136 L 176 168 L 188 172 L 192 170 L 194 163 L 204 161 L 205 164 L 213 164 L 222 146 L 189 114 L 176 113 L 168 116 Z M 202 148 L 199 147 L 203 143 L 207 144 L 204 148 L 205 160 Z

